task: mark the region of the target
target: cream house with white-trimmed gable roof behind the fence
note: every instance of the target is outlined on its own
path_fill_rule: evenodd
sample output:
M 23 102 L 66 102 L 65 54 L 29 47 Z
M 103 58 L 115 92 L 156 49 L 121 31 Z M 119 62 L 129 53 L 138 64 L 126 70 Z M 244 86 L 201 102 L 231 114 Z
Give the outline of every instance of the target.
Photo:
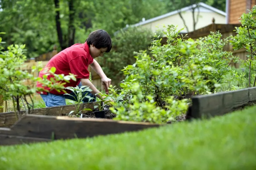
M 193 26 L 193 15 L 192 15 L 192 8 L 195 8 L 196 4 L 181 8 L 180 10 L 172 11 L 169 13 L 166 13 L 164 15 L 160 15 L 155 18 L 142 19 L 137 24 L 131 25 L 136 26 L 140 28 L 148 28 L 151 29 L 152 32 L 156 33 L 157 30 L 164 29 L 163 25 L 175 25 L 178 26 L 177 29 L 181 29 L 184 26 L 184 22 L 180 18 L 179 12 L 181 12 L 182 18 L 185 20 L 186 26 L 188 27 L 188 31 L 185 28 L 182 30 L 182 33 L 187 33 L 194 31 Z M 216 8 L 213 8 L 212 6 L 209 6 L 204 3 L 199 3 L 198 6 L 195 9 L 195 18 L 197 18 L 197 15 L 199 14 L 198 22 L 196 24 L 196 29 L 200 29 L 202 27 L 208 26 L 212 23 L 212 18 L 214 18 L 215 23 L 217 24 L 226 24 L 226 13 L 223 11 L 220 11 Z M 157 28 L 158 26 L 159 28 Z M 127 26 L 128 27 L 128 26 Z

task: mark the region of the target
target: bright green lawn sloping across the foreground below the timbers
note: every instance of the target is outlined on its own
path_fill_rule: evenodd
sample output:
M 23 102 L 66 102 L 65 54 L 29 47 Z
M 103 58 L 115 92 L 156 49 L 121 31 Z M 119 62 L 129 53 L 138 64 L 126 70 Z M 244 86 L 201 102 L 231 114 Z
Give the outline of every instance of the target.
M 255 110 L 137 133 L 0 147 L 0 169 L 255 169 Z

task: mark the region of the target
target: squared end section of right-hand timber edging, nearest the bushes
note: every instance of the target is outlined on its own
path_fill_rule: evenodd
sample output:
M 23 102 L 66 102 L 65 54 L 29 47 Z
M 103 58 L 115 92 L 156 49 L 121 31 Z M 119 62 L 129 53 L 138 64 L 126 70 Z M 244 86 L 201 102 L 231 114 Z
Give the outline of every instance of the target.
M 193 118 L 212 117 L 223 114 L 223 93 L 198 95 L 192 98 Z

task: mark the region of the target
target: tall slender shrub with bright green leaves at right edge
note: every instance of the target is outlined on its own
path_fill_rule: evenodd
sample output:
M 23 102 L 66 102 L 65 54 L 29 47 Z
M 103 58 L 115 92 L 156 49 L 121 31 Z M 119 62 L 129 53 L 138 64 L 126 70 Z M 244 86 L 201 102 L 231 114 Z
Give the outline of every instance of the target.
M 243 13 L 241 16 L 241 26 L 236 27 L 236 36 L 231 36 L 230 41 L 235 50 L 246 48 L 249 55 L 245 62 L 245 66 L 249 69 L 248 85 L 251 87 L 252 71 L 256 71 L 256 6 L 253 6 L 247 14 Z M 256 76 L 254 78 L 253 86 L 255 86 Z

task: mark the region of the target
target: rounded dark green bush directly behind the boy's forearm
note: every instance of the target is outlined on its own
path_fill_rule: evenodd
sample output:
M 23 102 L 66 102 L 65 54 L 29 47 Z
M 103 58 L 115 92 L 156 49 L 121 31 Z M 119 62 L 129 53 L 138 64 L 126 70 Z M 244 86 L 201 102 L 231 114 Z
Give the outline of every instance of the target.
M 116 34 L 112 40 L 112 50 L 97 59 L 103 71 L 113 80 L 114 85 L 125 78 L 121 70 L 136 61 L 133 52 L 146 50 L 153 37 L 154 34 L 151 31 L 136 27 L 129 27 L 125 31 L 120 30 Z

